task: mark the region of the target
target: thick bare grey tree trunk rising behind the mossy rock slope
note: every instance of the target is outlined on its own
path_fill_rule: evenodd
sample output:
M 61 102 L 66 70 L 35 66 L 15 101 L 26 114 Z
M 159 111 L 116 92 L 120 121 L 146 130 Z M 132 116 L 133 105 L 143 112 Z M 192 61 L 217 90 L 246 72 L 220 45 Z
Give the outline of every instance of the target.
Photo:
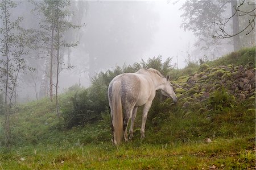
M 231 10 L 232 15 L 237 13 L 237 0 L 231 1 Z M 239 20 L 238 20 L 238 14 L 235 14 L 232 17 L 232 24 L 233 24 L 233 35 L 238 34 L 239 32 Z M 239 34 L 233 37 L 233 45 L 234 45 L 234 51 L 238 51 L 240 49 L 240 36 Z

